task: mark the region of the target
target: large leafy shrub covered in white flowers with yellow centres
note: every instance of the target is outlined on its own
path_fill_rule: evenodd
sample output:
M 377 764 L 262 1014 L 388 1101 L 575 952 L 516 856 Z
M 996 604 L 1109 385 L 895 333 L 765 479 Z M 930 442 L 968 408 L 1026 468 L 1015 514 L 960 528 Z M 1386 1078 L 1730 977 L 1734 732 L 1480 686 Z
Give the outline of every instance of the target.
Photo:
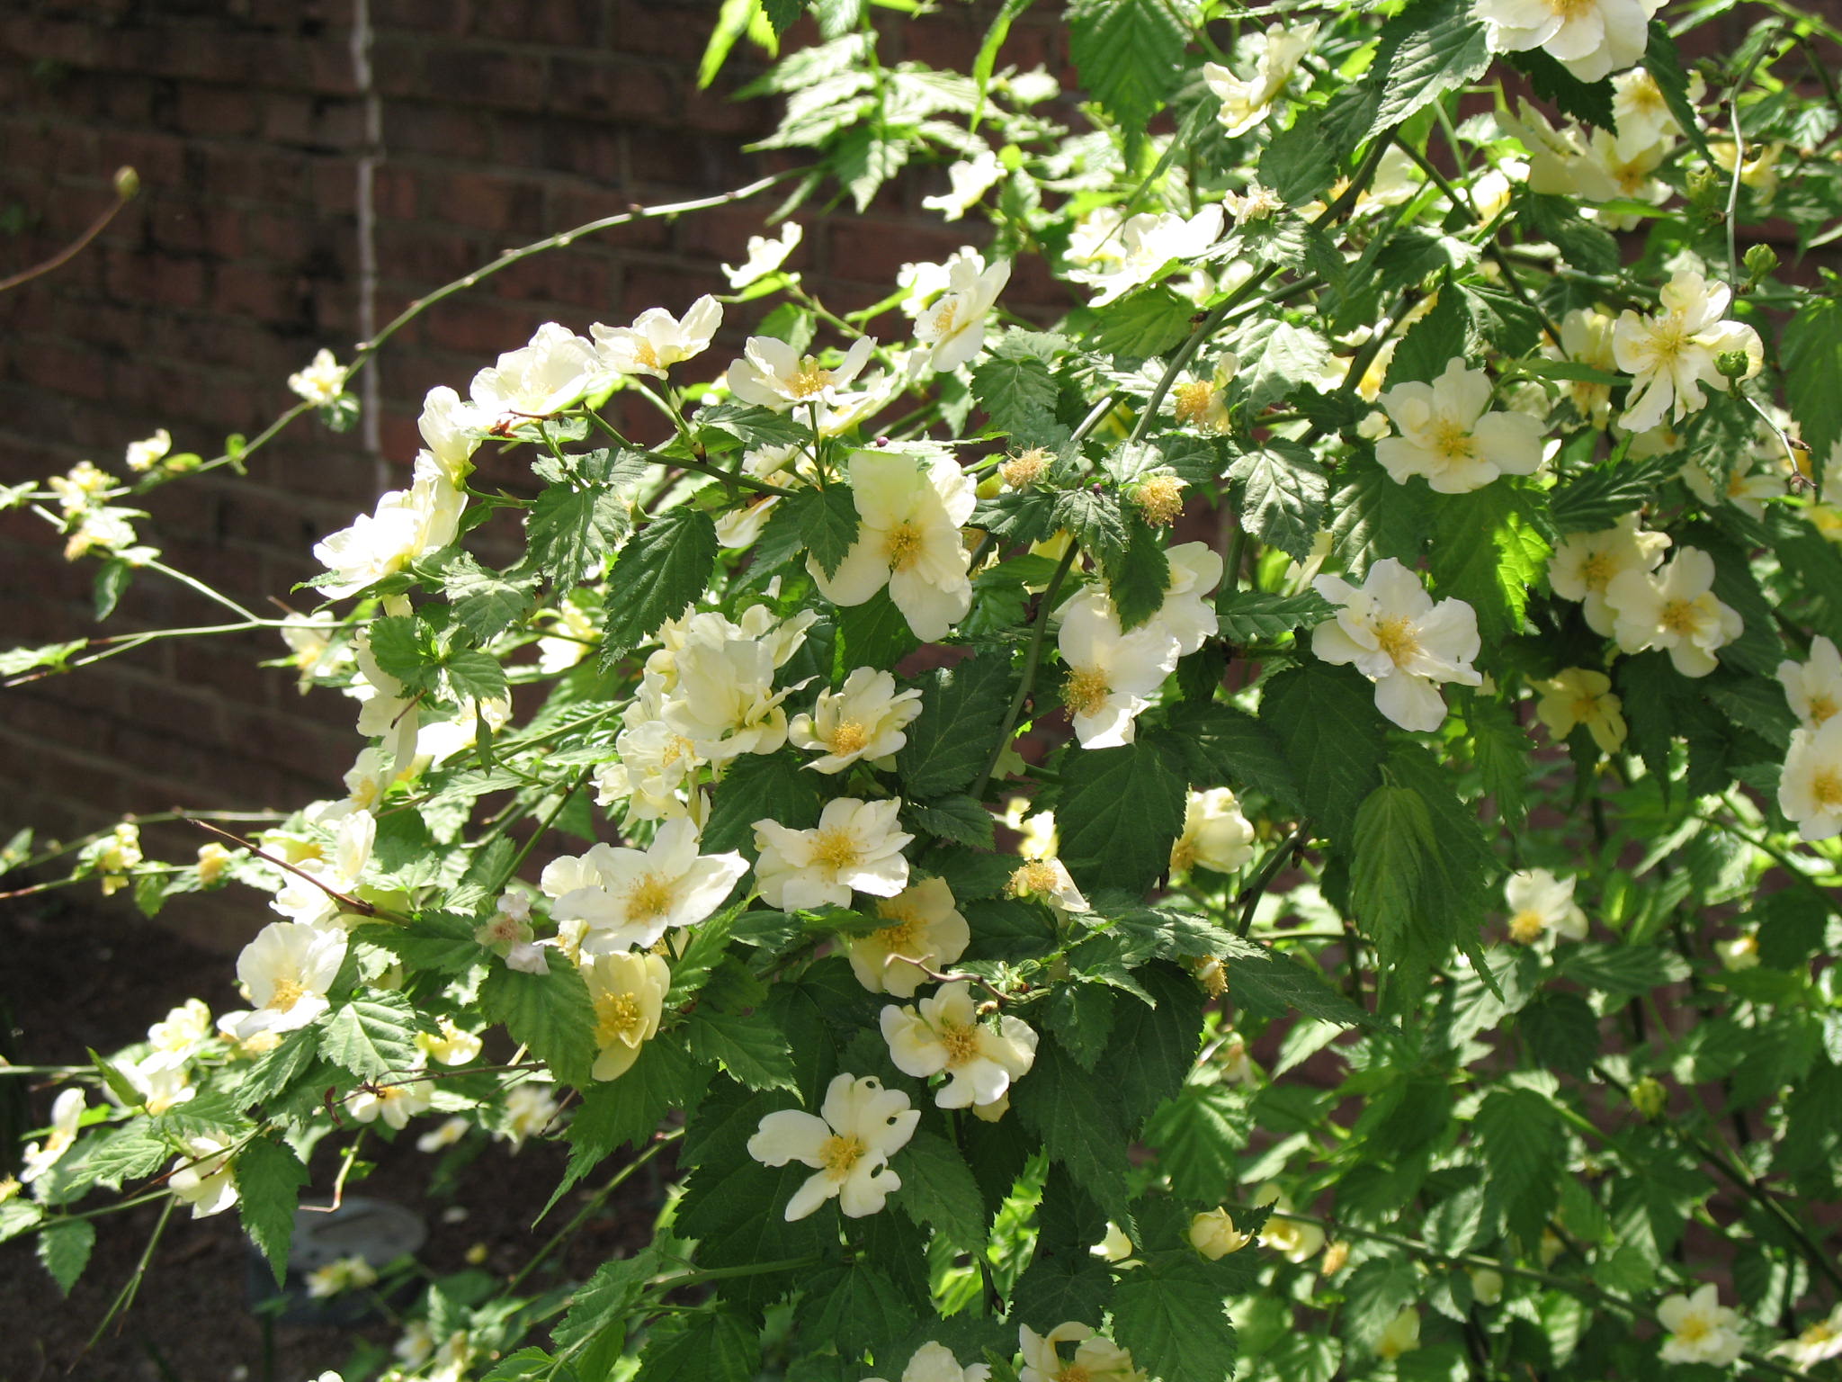
M 437 1284 L 387 1373 L 1833 1367 L 1842 302 L 1741 245 L 1836 234 L 1842 33 L 1074 0 L 1076 103 L 998 66 L 1026 6 L 952 74 L 820 4 L 759 83 L 801 193 L 945 158 L 982 247 L 838 315 L 787 223 L 724 299 L 543 326 L 427 396 L 313 614 L 136 534 L 262 439 L 7 490 L 101 614 L 175 579 L 274 627 L 363 748 L 197 861 L 35 857 L 278 919 L 247 1010 L 72 1067 L 0 1235 L 68 1286 L 116 1203 L 234 1207 L 280 1273 L 321 1139 L 315 1192 L 367 1137 L 560 1139 L 558 1198 L 674 1146 L 645 1251 Z M 713 61 L 798 11 L 726 6 Z M 287 418 L 348 424 L 381 345 Z

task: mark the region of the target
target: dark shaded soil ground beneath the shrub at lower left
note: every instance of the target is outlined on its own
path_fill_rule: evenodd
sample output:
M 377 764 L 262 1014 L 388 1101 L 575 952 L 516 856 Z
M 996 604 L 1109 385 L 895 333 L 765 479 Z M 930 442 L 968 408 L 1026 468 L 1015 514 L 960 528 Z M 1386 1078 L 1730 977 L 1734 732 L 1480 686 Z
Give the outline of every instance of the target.
M 252 929 L 262 919 L 252 916 Z M 87 908 L 74 894 L 0 903 L 0 1026 L 11 1028 L 0 1032 L 0 1050 L 11 1036 L 7 1054 L 20 1065 L 81 1063 L 85 1047 L 109 1052 L 138 1041 L 149 1023 L 188 997 L 204 999 L 214 1013 L 241 1006 L 230 958 L 138 918 Z M 31 1082 L 28 1109 L 15 1109 L 20 1126 L 44 1126 L 53 1095 L 55 1085 Z M 9 1122 L 4 1100 L 0 1091 L 0 1135 Z M 409 1131 L 416 1133 L 416 1124 Z M 339 1137 L 321 1142 L 309 1194 L 330 1189 L 343 1146 Z M 427 1185 L 433 1157 L 418 1154 L 413 1137 L 394 1146 L 368 1139 L 365 1154 L 378 1168 L 350 1189 L 426 1218 L 429 1238 L 418 1260 L 431 1273 L 464 1270 L 472 1251 L 475 1259 L 483 1253 L 479 1270 L 510 1277 L 588 1196 L 571 1192 L 530 1227 L 562 1174 L 564 1152 L 529 1142 L 514 1161 L 505 1146 L 488 1146 L 435 1198 Z M 599 1185 L 610 1170 L 613 1163 L 589 1181 Z M 650 1238 L 659 1194 L 658 1176 L 635 1176 L 530 1286 L 578 1281 L 606 1257 L 635 1251 Z M 107 1200 L 98 1196 L 85 1207 L 101 1203 Z M 385 1347 L 394 1341 L 398 1330 L 383 1321 L 357 1329 L 265 1325 L 251 1310 L 249 1244 L 230 1211 L 203 1220 L 175 1214 L 133 1310 L 87 1351 L 157 1218 L 158 1205 L 101 1218 L 96 1253 L 70 1299 L 59 1295 L 29 1240 L 0 1247 L 0 1382 L 309 1382 L 341 1367 L 359 1338 Z

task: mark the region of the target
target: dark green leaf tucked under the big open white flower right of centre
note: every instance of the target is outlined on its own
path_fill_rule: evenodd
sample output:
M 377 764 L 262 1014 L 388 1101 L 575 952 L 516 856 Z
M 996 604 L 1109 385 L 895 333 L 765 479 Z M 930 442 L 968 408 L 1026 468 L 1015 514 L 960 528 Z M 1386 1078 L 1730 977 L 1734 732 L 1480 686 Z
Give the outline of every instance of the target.
M 1382 781 L 1387 724 L 1374 689 L 1350 667 L 1313 660 L 1265 684 L 1260 722 L 1278 739 L 1312 822 L 1348 840 L 1356 809 Z

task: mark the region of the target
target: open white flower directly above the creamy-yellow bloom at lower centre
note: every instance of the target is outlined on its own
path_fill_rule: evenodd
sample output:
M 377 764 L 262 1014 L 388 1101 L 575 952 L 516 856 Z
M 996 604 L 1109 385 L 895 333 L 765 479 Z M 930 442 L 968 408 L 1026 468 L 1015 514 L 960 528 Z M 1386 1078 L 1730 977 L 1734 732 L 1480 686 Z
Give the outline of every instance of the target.
M 755 883 L 768 907 L 792 912 L 801 907 L 849 907 L 851 890 L 895 897 L 908 886 L 903 846 L 914 840 L 901 829 L 899 798 L 862 802 L 840 796 L 827 802 L 812 829 L 788 829 L 777 820 L 755 822 Z

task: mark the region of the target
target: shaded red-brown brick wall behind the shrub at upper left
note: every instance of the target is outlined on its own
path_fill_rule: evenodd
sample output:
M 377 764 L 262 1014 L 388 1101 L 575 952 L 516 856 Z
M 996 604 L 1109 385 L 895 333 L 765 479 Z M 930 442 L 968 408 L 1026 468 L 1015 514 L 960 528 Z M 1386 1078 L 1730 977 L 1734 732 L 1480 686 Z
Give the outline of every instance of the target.
M 381 140 L 367 146 L 354 64 L 359 0 L 11 0 L 0 9 L 0 276 L 74 240 L 133 164 L 144 192 L 83 254 L 0 295 L 0 481 L 83 457 L 122 472 L 127 442 L 168 427 L 216 455 L 289 402 L 286 376 L 361 337 L 359 164 L 376 155 L 374 321 L 501 251 L 623 210 L 740 186 L 775 164 L 742 144 L 766 101 L 733 101 L 757 55 L 740 44 L 718 88 L 696 61 L 717 0 L 370 0 Z M 993 6 L 949 6 L 899 35 L 967 66 Z M 1050 9 L 1050 7 L 1044 7 Z M 1020 22 L 1004 61 L 1059 63 L 1052 20 Z M 781 166 L 790 158 L 781 157 Z M 903 260 L 941 258 L 978 227 L 941 227 L 923 171 L 869 214 L 801 212 L 794 260 L 827 302 L 882 297 Z M 402 483 L 433 383 L 466 389 L 490 356 L 547 319 L 586 330 L 643 308 L 683 310 L 724 287 L 774 205 L 604 232 L 514 265 L 416 321 L 381 359 L 379 453 L 298 422 L 251 463 L 157 492 L 147 540 L 243 604 L 297 606 L 311 545 Z M 0 225 L 7 225 L 0 219 Z M 965 234 L 962 234 L 962 228 Z M 739 343 L 746 317 L 731 311 Z M 717 352 L 720 356 L 720 350 Z M 715 369 L 715 365 L 713 365 Z M 510 475 L 507 475 L 508 479 Z M 29 514 L 0 516 L 0 645 L 94 628 L 94 564 L 66 566 Z M 216 623 L 223 612 L 142 579 L 101 632 Z M 273 636 L 153 643 L 0 697 L 0 831 L 96 829 L 122 813 L 291 809 L 339 792 L 359 741 L 352 702 L 300 697 Z M 4 838 L 4 835 L 0 835 Z M 149 835 L 168 857 L 199 838 Z M 267 912 L 252 894 L 177 899 L 162 918 L 221 945 Z

